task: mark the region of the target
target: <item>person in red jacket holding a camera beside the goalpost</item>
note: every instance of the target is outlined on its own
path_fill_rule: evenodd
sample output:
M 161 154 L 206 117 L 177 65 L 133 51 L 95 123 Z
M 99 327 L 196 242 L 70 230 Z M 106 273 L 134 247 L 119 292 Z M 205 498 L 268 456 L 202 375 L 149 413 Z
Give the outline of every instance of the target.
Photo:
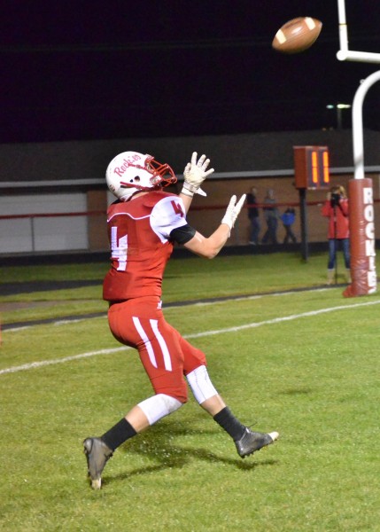
M 327 266 L 327 284 L 331 285 L 334 269 L 337 267 L 337 249 L 340 247 L 345 259 L 346 280 L 350 278 L 350 233 L 348 228 L 348 199 L 345 188 L 340 185 L 332 186 L 327 194 L 327 200 L 322 207 L 322 216 L 329 218 L 329 262 Z

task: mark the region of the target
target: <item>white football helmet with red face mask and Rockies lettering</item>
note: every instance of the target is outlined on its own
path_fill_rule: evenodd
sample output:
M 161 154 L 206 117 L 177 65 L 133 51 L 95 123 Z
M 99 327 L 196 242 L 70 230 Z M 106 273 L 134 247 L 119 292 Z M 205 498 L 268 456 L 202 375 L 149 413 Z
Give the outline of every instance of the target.
M 127 201 L 136 192 L 159 190 L 176 183 L 177 178 L 168 164 L 161 164 L 151 155 L 123 152 L 108 165 L 105 180 L 116 198 Z

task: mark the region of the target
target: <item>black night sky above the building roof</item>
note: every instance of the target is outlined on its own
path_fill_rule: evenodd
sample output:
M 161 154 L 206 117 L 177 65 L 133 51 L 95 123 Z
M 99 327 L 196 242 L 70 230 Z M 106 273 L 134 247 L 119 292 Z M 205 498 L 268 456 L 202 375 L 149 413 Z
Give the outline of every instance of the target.
M 374 4 L 346 0 L 351 50 L 380 52 Z M 306 15 L 323 23 L 313 47 L 273 51 Z M 1 143 L 336 127 L 326 105 L 380 68 L 336 59 L 336 0 L 6 0 L 0 26 Z M 380 129 L 376 85 L 364 125 Z

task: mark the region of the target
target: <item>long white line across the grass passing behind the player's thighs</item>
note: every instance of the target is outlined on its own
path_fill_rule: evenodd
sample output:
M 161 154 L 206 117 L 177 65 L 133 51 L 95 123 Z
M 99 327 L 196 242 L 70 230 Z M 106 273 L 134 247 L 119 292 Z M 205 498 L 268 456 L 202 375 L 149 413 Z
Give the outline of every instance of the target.
M 194 334 L 184 335 L 183 338 L 185 339 L 202 338 L 203 336 L 212 336 L 213 334 L 221 334 L 223 332 L 243 331 L 244 329 L 253 329 L 255 327 L 260 327 L 261 325 L 279 324 L 281 322 L 299 319 L 299 317 L 318 316 L 319 314 L 326 314 L 327 312 L 335 312 L 336 310 L 358 309 L 359 307 L 368 307 L 369 305 L 378 305 L 379 303 L 380 303 L 380 300 L 366 301 L 363 303 L 356 303 L 353 305 L 339 305 L 337 307 L 329 307 L 327 309 L 310 310 L 309 312 L 303 312 L 302 314 L 291 314 L 291 316 L 275 317 L 273 319 L 267 319 L 262 322 L 253 322 L 252 324 L 237 325 L 237 327 L 228 327 L 226 329 L 219 329 L 216 331 L 195 332 Z M 4 375 L 5 373 L 25 372 L 27 370 L 32 370 L 34 368 L 40 368 L 40 367 L 47 366 L 47 365 L 64 364 L 65 362 L 71 362 L 72 360 L 80 360 L 81 358 L 88 358 L 89 356 L 111 355 L 112 353 L 118 353 L 119 351 L 122 351 L 124 349 L 131 349 L 131 348 L 123 346 L 120 348 L 100 349 L 99 351 L 89 351 L 89 353 L 81 353 L 81 355 L 65 356 L 64 358 L 55 358 L 53 360 L 43 360 L 41 362 L 32 362 L 31 364 L 23 364 L 20 366 L 13 366 L 11 368 L 5 368 L 4 370 L 0 370 L 0 375 Z

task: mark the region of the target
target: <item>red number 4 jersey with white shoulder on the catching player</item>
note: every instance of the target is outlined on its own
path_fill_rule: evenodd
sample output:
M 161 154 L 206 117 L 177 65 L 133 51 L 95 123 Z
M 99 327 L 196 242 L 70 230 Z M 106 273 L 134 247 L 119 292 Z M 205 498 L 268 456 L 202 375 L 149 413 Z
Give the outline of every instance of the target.
M 107 213 L 111 269 L 105 276 L 103 298 L 160 297 L 173 251 L 170 232 L 186 223 L 181 198 L 169 192 L 154 191 L 112 203 Z

